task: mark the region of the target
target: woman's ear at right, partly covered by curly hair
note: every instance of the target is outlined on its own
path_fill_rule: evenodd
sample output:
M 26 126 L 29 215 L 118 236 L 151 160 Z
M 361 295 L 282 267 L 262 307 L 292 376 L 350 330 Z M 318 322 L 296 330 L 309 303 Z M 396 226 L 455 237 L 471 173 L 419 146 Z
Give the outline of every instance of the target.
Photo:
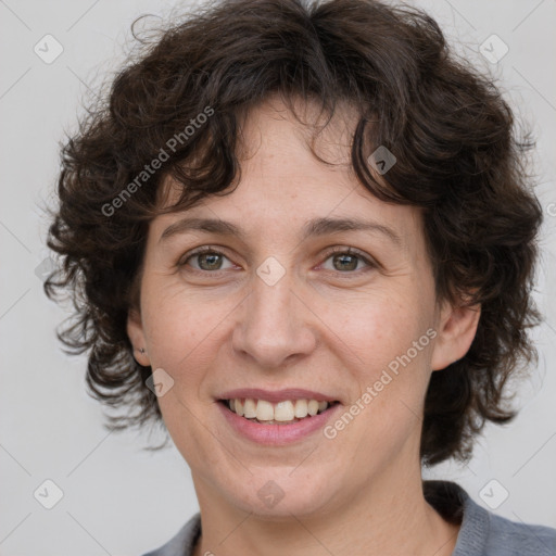
M 454 306 L 448 302 L 443 303 L 431 356 L 432 370 L 444 369 L 465 356 L 473 341 L 480 316 L 480 304 Z

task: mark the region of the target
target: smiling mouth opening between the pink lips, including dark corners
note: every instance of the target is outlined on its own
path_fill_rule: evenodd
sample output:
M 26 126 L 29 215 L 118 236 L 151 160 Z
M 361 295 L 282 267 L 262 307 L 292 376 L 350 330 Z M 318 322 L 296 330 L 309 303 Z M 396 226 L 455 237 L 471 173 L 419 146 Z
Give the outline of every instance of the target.
M 292 425 L 329 412 L 339 401 L 296 399 L 269 402 L 253 397 L 220 399 L 217 401 L 243 419 L 261 425 Z

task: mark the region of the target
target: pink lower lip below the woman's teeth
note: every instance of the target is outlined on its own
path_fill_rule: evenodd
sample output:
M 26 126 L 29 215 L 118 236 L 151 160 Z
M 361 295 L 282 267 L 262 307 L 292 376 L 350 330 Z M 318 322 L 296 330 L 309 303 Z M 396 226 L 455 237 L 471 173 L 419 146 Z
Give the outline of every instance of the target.
M 275 446 L 290 444 L 308 437 L 321 429 L 341 408 L 341 404 L 334 404 L 318 415 L 305 417 L 290 425 L 261 425 L 240 417 L 222 402 L 217 405 L 236 432 L 253 442 Z

